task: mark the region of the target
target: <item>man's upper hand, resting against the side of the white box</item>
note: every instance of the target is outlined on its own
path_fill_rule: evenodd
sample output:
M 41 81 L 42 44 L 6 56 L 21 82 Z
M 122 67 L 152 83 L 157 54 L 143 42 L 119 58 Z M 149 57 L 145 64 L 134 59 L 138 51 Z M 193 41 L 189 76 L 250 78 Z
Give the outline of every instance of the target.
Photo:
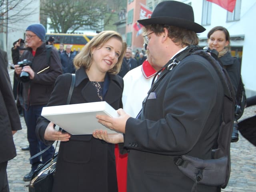
M 105 127 L 111 130 L 116 130 L 118 132 L 124 133 L 126 121 L 131 116 L 126 114 L 126 112 L 123 109 L 118 109 L 117 112 L 120 116 L 116 118 L 106 115 L 97 115 L 96 118 L 98 119 L 98 122 L 104 125 Z

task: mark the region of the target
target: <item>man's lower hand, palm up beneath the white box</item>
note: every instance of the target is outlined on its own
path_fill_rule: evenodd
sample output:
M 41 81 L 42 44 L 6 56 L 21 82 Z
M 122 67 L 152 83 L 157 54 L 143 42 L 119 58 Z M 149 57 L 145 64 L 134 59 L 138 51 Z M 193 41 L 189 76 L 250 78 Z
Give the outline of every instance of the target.
M 124 136 L 123 134 L 116 133 L 116 134 L 108 134 L 107 131 L 103 130 L 96 130 L 92 133 L 92 136 L 97 139 L 102 139 L 108 143 L 123 143 L 124 142 Z

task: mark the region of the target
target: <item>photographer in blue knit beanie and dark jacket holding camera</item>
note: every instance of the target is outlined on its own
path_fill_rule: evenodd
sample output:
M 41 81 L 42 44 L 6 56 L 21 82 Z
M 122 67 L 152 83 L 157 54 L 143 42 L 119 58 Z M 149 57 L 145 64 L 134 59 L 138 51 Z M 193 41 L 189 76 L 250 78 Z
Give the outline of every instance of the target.
M 46 30 L 42 24 L 32 24 L 26 29 L 26 50 L 20 57 L 20 62 L 14 66 L 15 75 L 22 86 L 22 106 L 27 126 L 30 156 L 44 150 L 47 146 L 36 138 L 36 120 L 40 116 L 42 108 L 46 106 L 54 87 L 56 78 L 62 74 L 59 54 L 51 48 L 50 58 L 47 58 L 47 48 L 44 43 Z M 20 78 L 22 77 L 22 78 Z M 21 87 L 18 88 L 19 90 Z M 30 160 L 31 171 L 23 178 L 30 181 L 38 164 L 45 163 L 52 157 L 54 148 L 48 149 L 41 156 Z

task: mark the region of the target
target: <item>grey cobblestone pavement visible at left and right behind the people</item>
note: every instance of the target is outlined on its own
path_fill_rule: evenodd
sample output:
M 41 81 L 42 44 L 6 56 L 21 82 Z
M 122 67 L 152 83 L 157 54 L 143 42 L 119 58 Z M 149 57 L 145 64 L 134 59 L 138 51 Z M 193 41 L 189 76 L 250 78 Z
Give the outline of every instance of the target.
M 13 70 L 9 70 L 12 79 Z M 241 120 L 256 114 L 256 107 L 246 108 Z M 14 134 L 17 156 L 8 162 L 7 172 L 10 192 L 28 192 L 23 176 L 30 172 L 29 151 L 22 151 L 27 146 L 26 124 L 21 117 L 22 130 Z M 228 186 L 223 192 L 256 192 L 256 147 L 239 135 L 237 143 L 231 143 L 231 175 Z

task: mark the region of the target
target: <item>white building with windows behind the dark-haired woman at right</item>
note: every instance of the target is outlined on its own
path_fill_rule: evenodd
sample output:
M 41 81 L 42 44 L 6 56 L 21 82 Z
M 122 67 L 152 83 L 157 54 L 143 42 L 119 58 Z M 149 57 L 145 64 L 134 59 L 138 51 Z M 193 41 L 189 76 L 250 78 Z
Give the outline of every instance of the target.
M 163 0 L 147 0 L 146 5 L 154 9 Z M 230 33 L 230 46 L 232 56 L 240 59 L 241 74 L 246 89 L 246 96 L 256 95 L 256 64 L 254 55 L 254 37 L 256 25 L 256 0 L 236 0 L 233 12 L 228 12 L 217 4 L 207 0 L 177 0 L 193 7 L 195 22 L 206 28 L 198 34 L 200 46 L 207 46 L 207 33 L 215 26 L 224 26 Z

